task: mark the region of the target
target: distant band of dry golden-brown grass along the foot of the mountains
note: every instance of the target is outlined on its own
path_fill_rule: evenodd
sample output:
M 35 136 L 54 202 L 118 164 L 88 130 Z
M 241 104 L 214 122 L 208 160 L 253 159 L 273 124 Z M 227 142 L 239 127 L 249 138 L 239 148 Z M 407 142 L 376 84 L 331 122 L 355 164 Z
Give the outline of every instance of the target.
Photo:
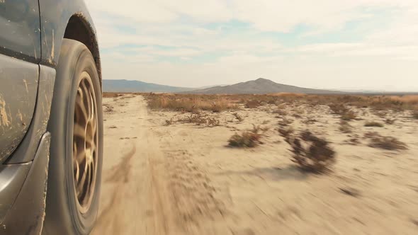
M 118 97 L 105 93 L 105 96 Z M 350 108 L 371 108 L 372 110 L 418 110 L 418 96 L 349 96 L 349 95 L 303 95 L 294 93 L 277 93 L 268 95 L 190 95 L 190 94 L 155 94 L 141 93 L 149 102 L 149 108 L 167 109 L 186 112 L 196 110 L 236 109 L 237 104 L 256 108 L 264 104 L 288 105 L 329 105 L 332 112 L 341 115 L 344 120 L 352 120 L 355 113 Z M 283 115 L 285 115 L 283 113 Z

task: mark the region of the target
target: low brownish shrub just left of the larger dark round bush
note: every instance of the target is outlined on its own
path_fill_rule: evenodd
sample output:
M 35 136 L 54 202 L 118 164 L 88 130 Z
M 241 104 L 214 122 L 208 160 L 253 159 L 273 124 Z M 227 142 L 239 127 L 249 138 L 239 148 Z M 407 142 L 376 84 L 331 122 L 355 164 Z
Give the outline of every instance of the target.
M 261 144 L 260 141 L 262 134 L 260 133 L 261 129 L 253 125 L 253 130 L 242 132 L 242 134 L 235 133 L 228 140 L 228 145 L 230 147 L 247 147 L 254 148 L 257 145 Z

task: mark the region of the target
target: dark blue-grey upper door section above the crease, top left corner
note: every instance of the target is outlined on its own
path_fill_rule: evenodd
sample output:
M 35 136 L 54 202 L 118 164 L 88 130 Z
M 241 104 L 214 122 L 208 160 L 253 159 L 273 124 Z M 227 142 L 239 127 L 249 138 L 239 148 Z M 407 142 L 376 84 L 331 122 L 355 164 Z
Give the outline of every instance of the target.
M 0 1 L 0 32 L 0 54 L 38 63 L 41 55 L 38 0 Z

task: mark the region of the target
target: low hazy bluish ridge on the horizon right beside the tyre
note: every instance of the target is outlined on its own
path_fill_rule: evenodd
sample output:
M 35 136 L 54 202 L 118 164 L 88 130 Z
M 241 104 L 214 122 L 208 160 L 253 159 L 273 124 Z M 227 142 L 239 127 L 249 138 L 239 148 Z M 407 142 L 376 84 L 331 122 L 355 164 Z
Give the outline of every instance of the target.
M 186 88 L 177 86 L 165 86 L 159 84 L 149 84 L 144 81 L 130 80 L 107 80 L 103 79 L 103 91 L 105 92 L 169 92 L 176 93 L 181 91 L 191 91 L 196 88 Z

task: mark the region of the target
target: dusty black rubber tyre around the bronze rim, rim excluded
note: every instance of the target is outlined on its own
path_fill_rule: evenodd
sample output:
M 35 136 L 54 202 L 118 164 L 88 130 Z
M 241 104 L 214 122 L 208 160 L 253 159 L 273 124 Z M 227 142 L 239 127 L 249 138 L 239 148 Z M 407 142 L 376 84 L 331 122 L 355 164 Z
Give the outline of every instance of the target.
M 89 74 L 94 86 L 98 119 L 96 185 L 91 205 L 85 214 L 77 209 L 72 159 L 75 99 L 83 71 Z M 66 39 L 63 41 L 51 110 L 48 127 L 53 139 L 50 156 L 52 170 L 48 177 L 46 231 L 49 234 L 89 234 L 96 222 L 101 188 L 103 110 L 96 65 L 91 53 L 81 42 Z

